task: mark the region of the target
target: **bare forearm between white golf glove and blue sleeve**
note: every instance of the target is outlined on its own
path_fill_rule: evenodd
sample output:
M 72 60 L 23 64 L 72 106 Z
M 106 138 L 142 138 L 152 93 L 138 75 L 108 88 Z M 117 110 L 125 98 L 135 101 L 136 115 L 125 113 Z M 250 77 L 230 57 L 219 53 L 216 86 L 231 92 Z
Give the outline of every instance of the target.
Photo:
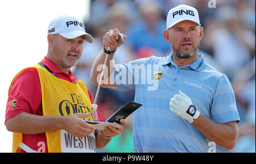
M 224 124 L 215 123 L 203 114 L 193 120 L 195 126 L 209 141 L 214 141 L 219 146 L 226 149 L 233 149 L 237 139 L 236 122 Z M 234 126 L 235 125 L 235 126 Z

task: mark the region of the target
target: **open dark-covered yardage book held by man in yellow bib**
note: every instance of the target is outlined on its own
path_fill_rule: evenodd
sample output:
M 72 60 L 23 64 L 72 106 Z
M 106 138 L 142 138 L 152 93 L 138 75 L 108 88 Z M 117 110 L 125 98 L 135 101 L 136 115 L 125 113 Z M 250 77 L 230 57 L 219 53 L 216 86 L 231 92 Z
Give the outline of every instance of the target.
M 110 118 L 106 120 L 106 122 L 98 122 L 98 121 L 89 121 L 85 120 L 85 122 L 93 124 L 95 128 L 98 130 L 104 130 L 105 126 L 112 125 L 113 127 L 119 128 L 121 127 L 120 119 L 126 119 L 131 113 L 141 107 L 141 103 L 130 101 L 125 106 L 121 107 L 121 109 L 117 110 Z M 118 124 L 114 124 L 113 122 L 117 122 Z

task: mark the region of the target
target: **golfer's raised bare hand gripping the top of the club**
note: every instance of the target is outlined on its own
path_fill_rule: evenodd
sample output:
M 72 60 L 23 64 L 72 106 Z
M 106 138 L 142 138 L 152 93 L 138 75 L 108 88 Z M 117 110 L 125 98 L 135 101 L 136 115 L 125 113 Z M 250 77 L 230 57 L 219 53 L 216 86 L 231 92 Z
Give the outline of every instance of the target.
M 118 29 L 110 29 L 109 32 L 106 32 L 105 36 L 103 37 L 103 44 L 105 48 L 110 48 L 110 51 L 114 51 L 117 49 L 121 44 L 118 44 L 117 40 L 119 38 L 118 36 L 119 30 Z M 126 39 L 127 36 L 123 35 L 123 39 Z

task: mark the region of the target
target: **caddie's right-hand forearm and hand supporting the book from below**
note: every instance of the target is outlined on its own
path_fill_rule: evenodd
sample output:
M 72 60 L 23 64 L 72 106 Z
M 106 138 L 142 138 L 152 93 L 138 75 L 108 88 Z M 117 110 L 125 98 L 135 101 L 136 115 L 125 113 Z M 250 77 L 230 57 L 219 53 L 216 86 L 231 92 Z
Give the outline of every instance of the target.
M 107 137 L 107 136 L 114 137 L 114 136 L 119 135 L 119 133 L 121 133 L 123 131 L 123 126 L 125 126 L 127 124 L 127 120 L 121 119 L 120 122 L 121 122 L 122 128 L 115 128 L 113 126 L 108 126 L 108 127 L 105 127 L 105 130 L 102 131 L 102 134 L 105 137 Z M 96 135 L 96 148 L 101 149 L 101 148 L 105 147 L 109 143 L 110 140 L 111 139 L 104 139 L 104 137 L 101 136 L 101 132 L 98 131 L 97 135 Z

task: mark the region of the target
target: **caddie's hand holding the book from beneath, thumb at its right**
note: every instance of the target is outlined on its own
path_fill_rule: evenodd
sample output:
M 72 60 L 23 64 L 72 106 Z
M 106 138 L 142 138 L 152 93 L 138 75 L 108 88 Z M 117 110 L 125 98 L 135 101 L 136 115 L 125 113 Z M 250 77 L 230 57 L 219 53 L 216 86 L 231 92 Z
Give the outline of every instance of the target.
M 123 131 L 123 126 L 125 126 L 127 124 L 127 120 L 121 119 L 120 122 L 121 122 L 121 126 L 122 126 L 121 128 L 115 128 L 113 126 L 105 127 L 105 130 L 102 131 L 103 135 L 105 137 L 114 137 L 114 136 L 119 135 L 119 133 L 121 133 Z M 116 122 L 114 122 L 114 123 L 117 124 Z

